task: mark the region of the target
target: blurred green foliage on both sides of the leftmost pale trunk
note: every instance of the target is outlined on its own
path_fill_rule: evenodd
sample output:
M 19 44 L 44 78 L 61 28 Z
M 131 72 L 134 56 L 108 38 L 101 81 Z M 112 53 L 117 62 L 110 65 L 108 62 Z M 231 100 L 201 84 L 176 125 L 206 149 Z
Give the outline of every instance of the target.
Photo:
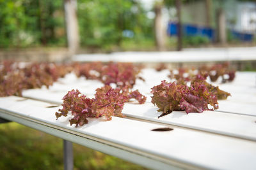
M 135 0 L 79 0 L 81 45 L 108 49 L 153 40 L 146 14 Z M 65 46 L 65 37 L 63 0 L 0 0 L 0 48 Z

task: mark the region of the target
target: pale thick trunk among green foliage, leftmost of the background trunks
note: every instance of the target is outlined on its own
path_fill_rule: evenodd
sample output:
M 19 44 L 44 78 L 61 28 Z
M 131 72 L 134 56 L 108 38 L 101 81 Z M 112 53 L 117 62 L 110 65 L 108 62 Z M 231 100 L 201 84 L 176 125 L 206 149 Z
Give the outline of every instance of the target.
M 79 28 L 76 13 L 77 1 L 64 0 L 64 2 L 68 51 L 70 55 L 74 55 L 79 49 Z

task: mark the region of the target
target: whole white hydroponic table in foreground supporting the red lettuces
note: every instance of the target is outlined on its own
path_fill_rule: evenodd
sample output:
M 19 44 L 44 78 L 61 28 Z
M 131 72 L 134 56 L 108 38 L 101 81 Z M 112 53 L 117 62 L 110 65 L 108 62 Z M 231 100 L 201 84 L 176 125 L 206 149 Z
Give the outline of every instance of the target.
M 150 88 L 168 80 L 168 71 L 145 69 L 141 76 L 146 81 L 138 81 L 134 88 L 148 97 L 147 102 L 126 103 L 126 118 L 89 118 L 88 124 L 78 128 L 69 125 L 71 115 L 56 120 L 55 112 L 68 90 L 78 89 L 93 97 L 95 89 L 102 86 L 97 80 L 74 74 L 49 89 L 24 90 L 26 98 L 1 97 L 0 117 L 153 169 L 255 169 L 256 73 L 237 73 L 232 83 L 217 82 L 220 89 L 232 94 L 227 101 L 220 101 L 219 110 L 173 111 L 161 118 L 150 103 Z M 56 104 L 58 107 L 47 108 Z M 158 127 L 173 131 L 151 131 Z

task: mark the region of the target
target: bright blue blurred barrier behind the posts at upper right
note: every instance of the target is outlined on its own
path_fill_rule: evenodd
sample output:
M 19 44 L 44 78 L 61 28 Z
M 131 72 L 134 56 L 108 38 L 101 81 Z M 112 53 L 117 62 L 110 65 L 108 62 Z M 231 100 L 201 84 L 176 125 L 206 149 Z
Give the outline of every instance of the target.
M 211 27 L 199 27 L 191 24 L 183 24 L 182 25 L 182 33 L 185 36 L 207 36 L 211 41 L 214 41 L 215 30 Z M 177 36 L 177 23 L 169 22 L 167 27 L 167 33 L 169 36 Z M 253 41 L 253 34 L 231 31 L 231 36 L 239 39 L 240 41 Z

